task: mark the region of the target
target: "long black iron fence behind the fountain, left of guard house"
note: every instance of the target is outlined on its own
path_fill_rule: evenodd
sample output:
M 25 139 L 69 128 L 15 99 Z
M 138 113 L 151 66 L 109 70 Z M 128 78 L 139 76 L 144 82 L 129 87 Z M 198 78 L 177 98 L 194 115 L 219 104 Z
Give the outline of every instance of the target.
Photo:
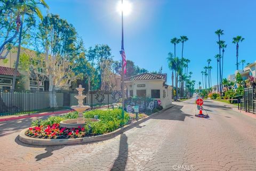
M 77 91 L 31 91 L 0 89 L 0 116 L 71 109 L 77 105 Z M 119 107 L 120 91 L 89 91 L 85 105 L 95 108 Z

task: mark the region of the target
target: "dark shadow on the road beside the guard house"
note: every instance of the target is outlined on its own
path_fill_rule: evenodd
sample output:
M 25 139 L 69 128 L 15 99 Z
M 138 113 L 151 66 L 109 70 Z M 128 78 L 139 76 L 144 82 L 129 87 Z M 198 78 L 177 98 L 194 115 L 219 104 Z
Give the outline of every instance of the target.
M 187 114 L 184 113 L 181 109 L 183 108 L 183 105 L 175 105 L 172 108 L 172 111 L 166 110 L 160 115 L 157 115 L 153 117 L 152 119 L 165 119 L 165 120 L 179 120 L 184 121 L 186 117 L 194 118 L 194 113 Z

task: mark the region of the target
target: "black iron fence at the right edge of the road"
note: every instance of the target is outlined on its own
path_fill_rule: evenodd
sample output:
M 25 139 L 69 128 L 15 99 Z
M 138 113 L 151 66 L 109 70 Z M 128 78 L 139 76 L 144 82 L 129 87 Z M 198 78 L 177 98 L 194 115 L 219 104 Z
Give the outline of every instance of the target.
M 239 100 L 238 109 L 245 112 L 256 113 L 256 88 L 245 88 L 242 99 Z

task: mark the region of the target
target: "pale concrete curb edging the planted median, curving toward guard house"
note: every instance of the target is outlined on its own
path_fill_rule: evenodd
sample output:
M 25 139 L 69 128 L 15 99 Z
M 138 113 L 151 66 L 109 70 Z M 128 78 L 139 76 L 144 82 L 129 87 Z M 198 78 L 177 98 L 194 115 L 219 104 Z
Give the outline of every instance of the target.
M 140 119 L 138 121 L 135 121 L 134 123 L 125 125 L 122 128 L 118 128 L 114 132 L 103 134 L 103 135 L 88 136 L 88 137 L 77 138 L 77 139 L 36 139 L 36 138 L 29 137 L 29 136 L 25 135 L 25 132 L 28 130 L 28 128 L 25 128 L 20 132 L 18 139 L 21 142 L 30 144 L 30 145 L 70 145 L 70 144 L 93 143 L 93 142 L 105 141 L 105 140 L 113 139 L 117 135 L 122 134 L 125 131 L 127 131 L 133 127 L 136 127 L 139 124 L 141 124 L 157 115 L 160 115 L 162 112 L 164 112 L 167 109 L 170 109 L 174 106 L 175 105 L 172 105 L 171 107 L 168 107 L 159 112 L 153 113 L 152 115 L 148 116 L 147 118 Z

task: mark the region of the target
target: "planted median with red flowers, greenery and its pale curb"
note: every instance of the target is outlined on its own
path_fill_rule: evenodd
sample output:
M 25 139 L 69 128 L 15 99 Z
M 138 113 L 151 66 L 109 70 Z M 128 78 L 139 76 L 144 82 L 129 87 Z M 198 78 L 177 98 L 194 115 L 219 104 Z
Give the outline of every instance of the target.
M 139 120 L 135 115 L 125 112 L 124 119 L 121 109 L 93 110 L 84 112 L 84 118 L 98 116 L 100 121 L 87 123 L 85 127 L 60 128 L 60 121 L 75 119 L 76 112 L 69 112 L 63 116 L 50 117 L 46 120 L 36 120 L 30 128 L 23 129 L 19 134 L 19 140 L 32 145 L 66 145 L 89 143 L 111 139 L 128 129 L 139 125 L 159 112 L 147 116 L 139 114 Z

